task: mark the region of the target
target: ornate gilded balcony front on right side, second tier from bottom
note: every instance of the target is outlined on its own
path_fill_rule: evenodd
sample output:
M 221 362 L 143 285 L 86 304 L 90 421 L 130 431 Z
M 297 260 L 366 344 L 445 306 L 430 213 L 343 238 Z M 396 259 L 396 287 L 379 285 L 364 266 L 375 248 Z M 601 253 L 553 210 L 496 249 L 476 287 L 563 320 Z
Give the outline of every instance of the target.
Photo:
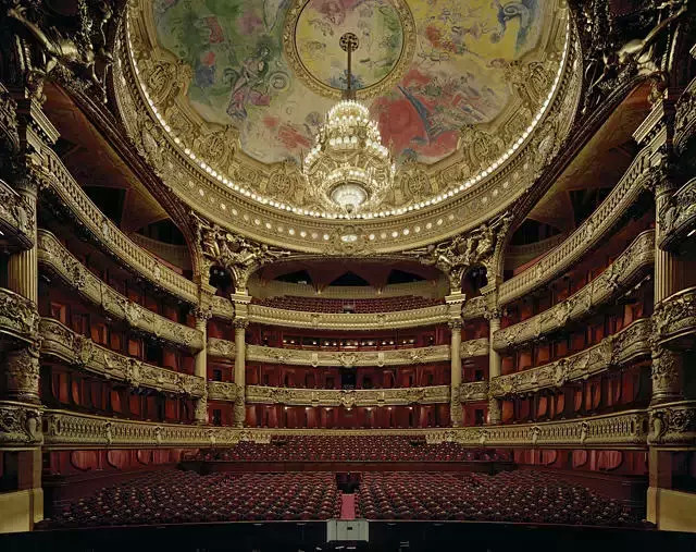
M 490 395 L 496 398 L 561 388 L 567 383 L 619 368 L 637 358 L 649 358 L 652 323 L 649 318 L 636 320 L 619 333 L 598 344 L 554 363 L 498 376 L 490 381 Z

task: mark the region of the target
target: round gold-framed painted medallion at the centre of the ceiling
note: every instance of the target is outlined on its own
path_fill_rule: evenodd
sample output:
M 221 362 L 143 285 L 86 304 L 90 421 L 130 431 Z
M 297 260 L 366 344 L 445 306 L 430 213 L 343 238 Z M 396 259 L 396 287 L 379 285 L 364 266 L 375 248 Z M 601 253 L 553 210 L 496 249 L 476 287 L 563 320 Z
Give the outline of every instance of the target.
M 403 0 L 376 0 L 374 5 L 356 2 L 340 9 L 324 0 L 295 0 L 283 33 L 288 64 L 312 91 L 340 99 L 347 78 L 343 53 L 338 42 L 326 37 L 349 29 L 359 29 L 364 42 L 363 59 L 351 76 L 356 98 L 390 90 L 415 51 L 415 22 Z

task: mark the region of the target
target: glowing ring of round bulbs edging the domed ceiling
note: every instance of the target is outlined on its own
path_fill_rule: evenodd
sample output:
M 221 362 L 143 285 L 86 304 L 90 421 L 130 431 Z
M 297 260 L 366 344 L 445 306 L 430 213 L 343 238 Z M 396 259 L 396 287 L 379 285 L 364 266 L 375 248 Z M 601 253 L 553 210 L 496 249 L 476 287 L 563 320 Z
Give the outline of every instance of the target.
M 133 70 L 135 71 L 135 74 L 137 76 L 139 76 L 140 72 L 138 70 L 138 65 L 137 62 L 135 60 L 134 57 L 134 49 L 133 49 L 133 42 L 130 41 L 130 24 L 129 24 L 129 16 L 126 16 L 126 37 L 127 37 L 127 42 L 128 42 L 128 54 L 130 58 L 130 63 L 133 66 Z M 174 134 L 174 132 L 172 131 L 171 126 L 166 123 L 166 121 L 164 120 L 164 118 L 162 116 L 162 114 L 159 112 L 157 106 L 154 105 L 154 102 L 152 101 L 152 99 L 150 98 L 150 95 L 148 94 L 148 90 L 146 89 L 145 85 L 142 84 L 142 82 L 140 81 L 140 78 L 138 78 L 138 84 L 140 86 L 140 90 L 142 93 L 142 95 L 145 96 L 145 99 L 147 100 L 148 106 L 150 107 L 150 110 L 152 111 L 152 113 L 154 114 L 156 119 L 159 121 L 159 123 L 162 125 L 162 127 L 164 128 L 164 131 L 166 132 L 167 136 L 172 139 L 172 142 L 174 142 L 174 144 L 183 151 L 183 154 L 188 157 L 191 161 L 194 161 L 203 172 L 206 172 L 210 177 L 214 179 L 215 181 L 217 181 L 220 184 L 228 187 L 229 189 L 233 189 L 234 192 L 237 192 L 238 194 L 253 200 L 257 201 L 263 206 L 266 207 L 273 207 L 275 209 L 278 209 L 281 211 L 286 211 L 286 212 L 291 212 L 294 214 L 302 214 L 302 216 L 307 216 L 307 217 L 313 217 L 313 218 L 318 218 L 318 219 L 330 219 L 330 220 L 334 220 L 334 219 L 348 219 L 348 220 L 359 220 L 359 219 L 365 219 L 365 220 L 370 220 L 370 219 L 382 219 L 382 218 L 386 218 L 386 217 L 394 217 L 394 216 L 399 216 L 399 214 L 405 214 L 407 212 L 412 212 L 412 211 L 418 211 L 420 209 L 426 208 L 426 207 L 431 207 L 437 204 L 440 204 L 442 201 L 449 199 L 451 197 L 455 197 L 463 192 L 465 192 L 467 189 L 469 189 L 471 186 L 473 186 L 474 184 L 478 184 L 482 180 L 484 180 L 485 177 L 487 177 L 488 175 L 493 174 L 499 167 L 501 167 L 518 149 L 520 149 L 522 147 L 522 145 L 525 143 L 526 138 L 532 134 L 532 132 L 534 132 L 534 128 L 536 128 L 536 125 L 539 123 L 539 121 L 543 119 L 547 108 L 550 106 L 551 100 L 556 94 L 556 90 L 558 88 L 558 84 L 560 83 L 561 76 L 563 74 L 563 68 L 566 66 L 566 60 L 568 57 L 568 50 L 569 50 L 569 45 L 570 45 L 570 17 L 568 20 L 568 23 L 566 25 L 566 42 L 563 45 L 563 52 L 561 56 L 561 59 L 559 61 L 558 64 L 558 71 L 556 72 L 556 77 L 554 78 L 554 84 L 546 97 L 546 100 L 544 101 L 544 103 L 542 105 L 542 108 L 537 111 L 536 115 L 534 116 L 534 119 L 532 120 L 532 123 L 530 123 L 530 125 L 526 127 L 526 130 L 522 133 L 522 135 L 518 138 L 518 140 L 510 146 L 510 148 L 502 154 L 496 161 L 494 161 L 493 163 L 490 163 L 490 165 L 488 165 L 486 169 L 484 169 L 483 171 L 481 171 L 478 174 L 476 174 L 475 176 L 472 176 L 470 179 L 468 179 L 465 182 L 461 183 L 458 187 L 450 189 L 447 193 L 437 195 L 433 198 L 417 203 L 417 204 L 411 204 L 407 207 L 399 207 L 397 209 L 389 209 L 389 210 L 385 210 L 385 211 L 378 211 L 378 212 L 359 212 L 359 213 L 346 213 L 346 212 L 327 212 L 327 211 L 315 211 L 315 210 L 308 210 L 308 209 L 303 209 L 301 207 L 296 207 L 296 206 L 291 206 L 291 205 L 287 205 L 284 204 L 282 201 L 277 201 L 273 198 L 263 196 L 261 194 L 257 194 L 253 191 L 250 191 L 249 188 L 246 188 L 244 186 L 240 186 L 239 184 L 237 184 L 236 182 L 231 181 L 227 176 L 225 176 L 224 174 L 215 171 L 212 167 L 210 167 L 208 163 L 206 163 L 206 161 L 203 161 L 202 159 L 199 159 L 198 156 L 196 156 L 196 154 L 194 151 L 191 151 L 191 149 L 189 147 L 187 147 L 183 140 L 176 136 Z M 364 106 L 356 102 L 358 106 L 360 106 L 362 109 L 364 109 L 365 111 L 368 111 L 368 108 L 365 108 Z M 338 106 L 335 106 L 333 109 L 336 109 Z M 330 110 L 331 113 L 331 110 Z M 369 114 L 369 111 L 368 111 Z M 384 156 L 386 157 L 388 155 L 388 149 L 386 147 L 384 147 L 383 145 L 378 144 L 378 148 L 383 148 L 384 149 Z M 382 151 L 378 150 L 380 154 L 382 155 Z

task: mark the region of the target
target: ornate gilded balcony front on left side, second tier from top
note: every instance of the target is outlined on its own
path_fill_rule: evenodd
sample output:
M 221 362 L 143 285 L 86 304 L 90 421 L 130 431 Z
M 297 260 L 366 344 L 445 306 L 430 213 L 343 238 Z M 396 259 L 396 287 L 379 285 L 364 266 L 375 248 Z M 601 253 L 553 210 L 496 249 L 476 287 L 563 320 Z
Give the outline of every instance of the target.
M 200 330 L 164 318 L 120 294 L 87 270 L 53 234 L 45 230 L 38 233 L 38 260 L 83 298 L 103 308 L 110 317 L 175 345 L 195 351 L 202 348 Z

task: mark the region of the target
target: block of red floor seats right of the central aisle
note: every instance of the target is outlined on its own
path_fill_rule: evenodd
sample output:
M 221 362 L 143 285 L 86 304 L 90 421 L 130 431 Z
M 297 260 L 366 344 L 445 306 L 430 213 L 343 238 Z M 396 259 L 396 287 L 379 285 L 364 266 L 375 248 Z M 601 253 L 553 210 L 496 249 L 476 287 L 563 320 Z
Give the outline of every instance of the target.
M 637 526 L 618 501 L 599 496 L 548 473 L 364 474 L 358 517 L 451 519 L 534 524 Z

